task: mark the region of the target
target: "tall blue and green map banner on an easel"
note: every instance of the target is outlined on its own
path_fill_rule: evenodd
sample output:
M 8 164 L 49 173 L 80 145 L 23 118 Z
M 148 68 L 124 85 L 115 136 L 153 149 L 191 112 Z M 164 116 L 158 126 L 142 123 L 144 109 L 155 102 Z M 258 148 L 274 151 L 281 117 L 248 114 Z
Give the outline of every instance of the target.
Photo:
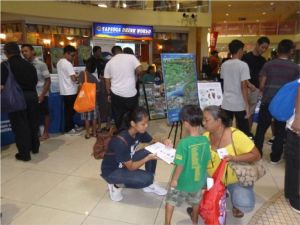
M 178 122 L 183 105 L 198 104 L 194 54 L 161 54 L 169 123 Z

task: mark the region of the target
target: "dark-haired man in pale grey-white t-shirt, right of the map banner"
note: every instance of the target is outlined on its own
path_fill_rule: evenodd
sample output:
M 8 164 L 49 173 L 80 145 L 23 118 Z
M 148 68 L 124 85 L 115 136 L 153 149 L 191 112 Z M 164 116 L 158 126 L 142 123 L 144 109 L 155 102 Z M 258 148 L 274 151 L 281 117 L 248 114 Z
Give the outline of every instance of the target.
M 247 84 L 250 71 L 247 63 L 241 61 L 244 43 L 233 40 L 228 47 L 232 58 L 221 66 L 221 78 L 224 80 L 222 109 L 231 119 L 235 117 L 237 128 L 246 135 L 252 136 L 248 123 L 250 111 Z

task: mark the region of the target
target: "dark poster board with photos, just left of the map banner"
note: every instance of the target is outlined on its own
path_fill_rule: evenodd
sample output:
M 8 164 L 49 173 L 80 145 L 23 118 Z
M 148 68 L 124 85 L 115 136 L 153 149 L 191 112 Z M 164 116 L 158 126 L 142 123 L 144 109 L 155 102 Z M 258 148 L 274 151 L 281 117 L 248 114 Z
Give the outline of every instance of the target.
M 151 120 L 166 118 L 166 100 L 159 85 L 140 84 L 139 105 L 147 108 Z

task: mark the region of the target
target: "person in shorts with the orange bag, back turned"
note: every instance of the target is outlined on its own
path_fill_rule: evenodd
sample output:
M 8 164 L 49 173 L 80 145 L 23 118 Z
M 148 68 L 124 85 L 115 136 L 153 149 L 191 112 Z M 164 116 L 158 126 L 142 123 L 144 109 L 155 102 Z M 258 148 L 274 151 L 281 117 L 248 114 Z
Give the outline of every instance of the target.
M 96 96 L 98 96 L 98 92 L 99 92 L 99 80 L 97 78 L 97 75 L 94 75 L 95 71 L 96 71 L 96 60 L 94 58 L 89 58 L 86 62 L 86 68 L 85 68 L 85 73 L 87 73 L 87 82 L 89 83 L 96 83 Z M 79 75 L 79 82 L 82 85 L 84 82 L 84 76 L 85 76 L 84 72 L 81 72 Z M 92 136 L 96 137 L 96 130 L 97 130 L 97 118 L 98 118 L 98 104 L 97 104 L 98 99 L 96 99 L 96 107 L 94 110 L 90 111 L 90 112 L 84 112 L 81 113 L 81 119 L 85 120 L 85 130 L 86 130 L 86 134 L 85 134 L 85 138 L 89 139 L 91 136 L 90 133 L 90 122 L 92 122 Z

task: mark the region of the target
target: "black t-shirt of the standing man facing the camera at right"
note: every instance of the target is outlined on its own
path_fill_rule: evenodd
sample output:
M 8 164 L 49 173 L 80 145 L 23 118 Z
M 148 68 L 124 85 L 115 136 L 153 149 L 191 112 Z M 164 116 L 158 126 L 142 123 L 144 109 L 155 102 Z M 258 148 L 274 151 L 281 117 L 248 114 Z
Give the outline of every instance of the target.
M 256 88 L 259 88 L 259 72 L 266 63 L 266 59 L 261 55 L 256 56 L 253 52 L 248 52 L 243 55 L 242 60 L 249 66 L 251 84 L 253 84 Z

